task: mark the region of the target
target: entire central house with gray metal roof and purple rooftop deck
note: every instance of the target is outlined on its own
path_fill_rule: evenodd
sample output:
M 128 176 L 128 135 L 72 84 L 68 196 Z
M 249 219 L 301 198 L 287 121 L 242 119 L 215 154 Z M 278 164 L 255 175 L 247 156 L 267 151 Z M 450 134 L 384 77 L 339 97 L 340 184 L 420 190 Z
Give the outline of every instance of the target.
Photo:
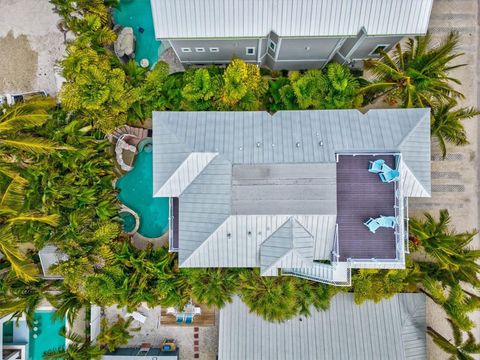
M 429 109 L 154 112 L 153 148 L 180 267 L 349 285 L 352 268 L 405 267 L 408 197 L 430 196 Z

